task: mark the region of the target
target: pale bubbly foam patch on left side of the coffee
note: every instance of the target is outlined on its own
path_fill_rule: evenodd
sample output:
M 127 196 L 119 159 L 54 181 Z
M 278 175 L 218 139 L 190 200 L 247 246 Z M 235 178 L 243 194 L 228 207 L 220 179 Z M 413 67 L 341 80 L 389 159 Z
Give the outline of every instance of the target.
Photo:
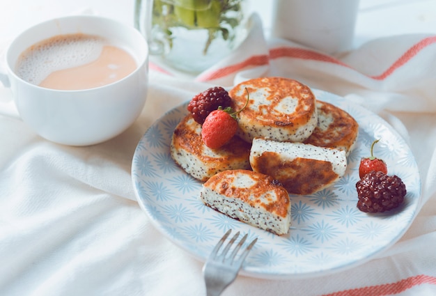
M 104 38 L 82 33 L 54 36 L 26 49 L 17 61 L 15 73 L 39 85 L 50 73 L 77 67 L 98 59 Z

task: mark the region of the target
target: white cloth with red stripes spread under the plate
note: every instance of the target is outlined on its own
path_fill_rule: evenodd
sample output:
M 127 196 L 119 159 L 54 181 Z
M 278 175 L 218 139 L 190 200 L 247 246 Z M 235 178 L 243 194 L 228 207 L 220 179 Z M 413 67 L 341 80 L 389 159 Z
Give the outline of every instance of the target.
M 436 295 L 436 37 L 383 38 L 333 57 L 265 40 L 252 21 L 242 47 L 196 77 L 150 65 L 140 118 L 100 145 L 50 143 L 0 116 L 0 295 L 205 295 L 202 263 L 161 235 L 135 201 L 134 148 L 159 116 L 199 91 L 266 75 L 387 119 L 419 164 L 422 208 L 399 242 L 358 267 L 315 279 L 239 276 L 223 295 Z

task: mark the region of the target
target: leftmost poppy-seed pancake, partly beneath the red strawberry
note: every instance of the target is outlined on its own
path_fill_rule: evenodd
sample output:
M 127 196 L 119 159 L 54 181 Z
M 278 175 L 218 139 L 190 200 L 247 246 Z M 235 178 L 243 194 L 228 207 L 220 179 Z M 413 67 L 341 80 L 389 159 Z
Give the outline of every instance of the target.
M 250 143 L 233 137 L 226 145 L 210 149 L 201 139 L 201 125 L 189 114 L 173 132 L 171 157 L 189 175 L 204 182 L 220 171 L 249 169 Z

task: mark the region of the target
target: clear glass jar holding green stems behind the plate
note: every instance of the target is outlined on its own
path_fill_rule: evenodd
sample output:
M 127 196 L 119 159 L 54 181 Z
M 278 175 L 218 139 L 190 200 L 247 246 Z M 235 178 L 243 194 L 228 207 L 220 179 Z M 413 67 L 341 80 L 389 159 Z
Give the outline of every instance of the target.
M 137 0 L 134 24 L 150 54 L 198 73 L 228 56 L 248 34 L 249 0 Z

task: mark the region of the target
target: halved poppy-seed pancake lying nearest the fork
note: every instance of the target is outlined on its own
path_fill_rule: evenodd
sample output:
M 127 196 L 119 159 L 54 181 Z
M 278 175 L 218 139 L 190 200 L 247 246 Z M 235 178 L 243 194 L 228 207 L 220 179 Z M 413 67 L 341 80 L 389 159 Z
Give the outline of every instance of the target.
M 279 235 L 289 231 L 288 192 L 270 176 L 248 170 L 223 171 L 203 184 L 200 199 L 251 226 Z

